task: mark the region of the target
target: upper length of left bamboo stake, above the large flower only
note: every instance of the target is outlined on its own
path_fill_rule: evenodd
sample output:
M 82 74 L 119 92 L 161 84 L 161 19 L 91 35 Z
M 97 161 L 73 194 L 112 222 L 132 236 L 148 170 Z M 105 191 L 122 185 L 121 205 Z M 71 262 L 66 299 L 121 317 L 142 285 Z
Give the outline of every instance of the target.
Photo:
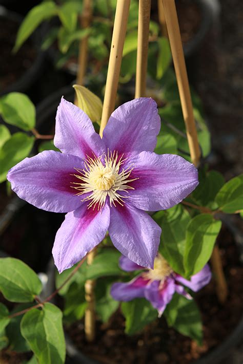
M 103 135 L 103 130 L 105 129 L 107 121 L 115 109 L 115 100 L 120 74 L 120 65 L 122 63 L 123 57 L 123 46 L 127 30 L 129 7 L 130 0 L 117 0 L 106 81 L 106 91 L 99 130 L 99 135 L 101 137 Z

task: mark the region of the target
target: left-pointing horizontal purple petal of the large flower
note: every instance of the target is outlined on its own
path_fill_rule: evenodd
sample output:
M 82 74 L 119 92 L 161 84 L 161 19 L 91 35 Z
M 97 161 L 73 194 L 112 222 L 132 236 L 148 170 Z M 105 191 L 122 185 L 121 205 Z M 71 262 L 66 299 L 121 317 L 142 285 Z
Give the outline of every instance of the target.
M 44 151 L 25 158 L 9 170 L 8 180 L 18 197 L 43 210 L 69 212 L 82 205 L 71 183 L 75 168 L 84 168 L 78 157 Z

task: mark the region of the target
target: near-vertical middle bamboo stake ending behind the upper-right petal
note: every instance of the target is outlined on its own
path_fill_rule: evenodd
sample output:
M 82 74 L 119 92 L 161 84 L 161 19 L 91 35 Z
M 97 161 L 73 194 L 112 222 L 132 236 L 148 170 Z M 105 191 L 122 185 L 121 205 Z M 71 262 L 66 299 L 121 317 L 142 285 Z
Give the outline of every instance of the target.
M 135 98 L 146 96 L 151 0 L 139 0 Z

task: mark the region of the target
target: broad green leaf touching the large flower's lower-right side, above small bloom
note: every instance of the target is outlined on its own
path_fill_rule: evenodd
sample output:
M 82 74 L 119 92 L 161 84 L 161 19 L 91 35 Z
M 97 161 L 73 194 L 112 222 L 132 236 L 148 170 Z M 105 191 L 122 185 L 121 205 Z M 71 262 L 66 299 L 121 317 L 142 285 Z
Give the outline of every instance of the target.
M 175 272 L 185 275 L 183 260 L 186 229 L 191 217 L 181 205 L 166 210 L 162 217 L 158 214 L 158 212 L 155 213 L 153 218 L 162 228 L 159 252 Z

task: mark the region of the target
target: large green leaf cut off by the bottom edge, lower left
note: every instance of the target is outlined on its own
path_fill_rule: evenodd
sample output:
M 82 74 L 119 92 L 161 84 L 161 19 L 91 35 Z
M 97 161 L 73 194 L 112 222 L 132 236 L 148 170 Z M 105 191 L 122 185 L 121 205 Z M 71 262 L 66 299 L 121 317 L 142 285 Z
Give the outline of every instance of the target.
M 66 350 L 59 308 L 46 303 L 43 310 L 28 311 L 21 321 L 21 333 L 39 364 L 64 363 Z

